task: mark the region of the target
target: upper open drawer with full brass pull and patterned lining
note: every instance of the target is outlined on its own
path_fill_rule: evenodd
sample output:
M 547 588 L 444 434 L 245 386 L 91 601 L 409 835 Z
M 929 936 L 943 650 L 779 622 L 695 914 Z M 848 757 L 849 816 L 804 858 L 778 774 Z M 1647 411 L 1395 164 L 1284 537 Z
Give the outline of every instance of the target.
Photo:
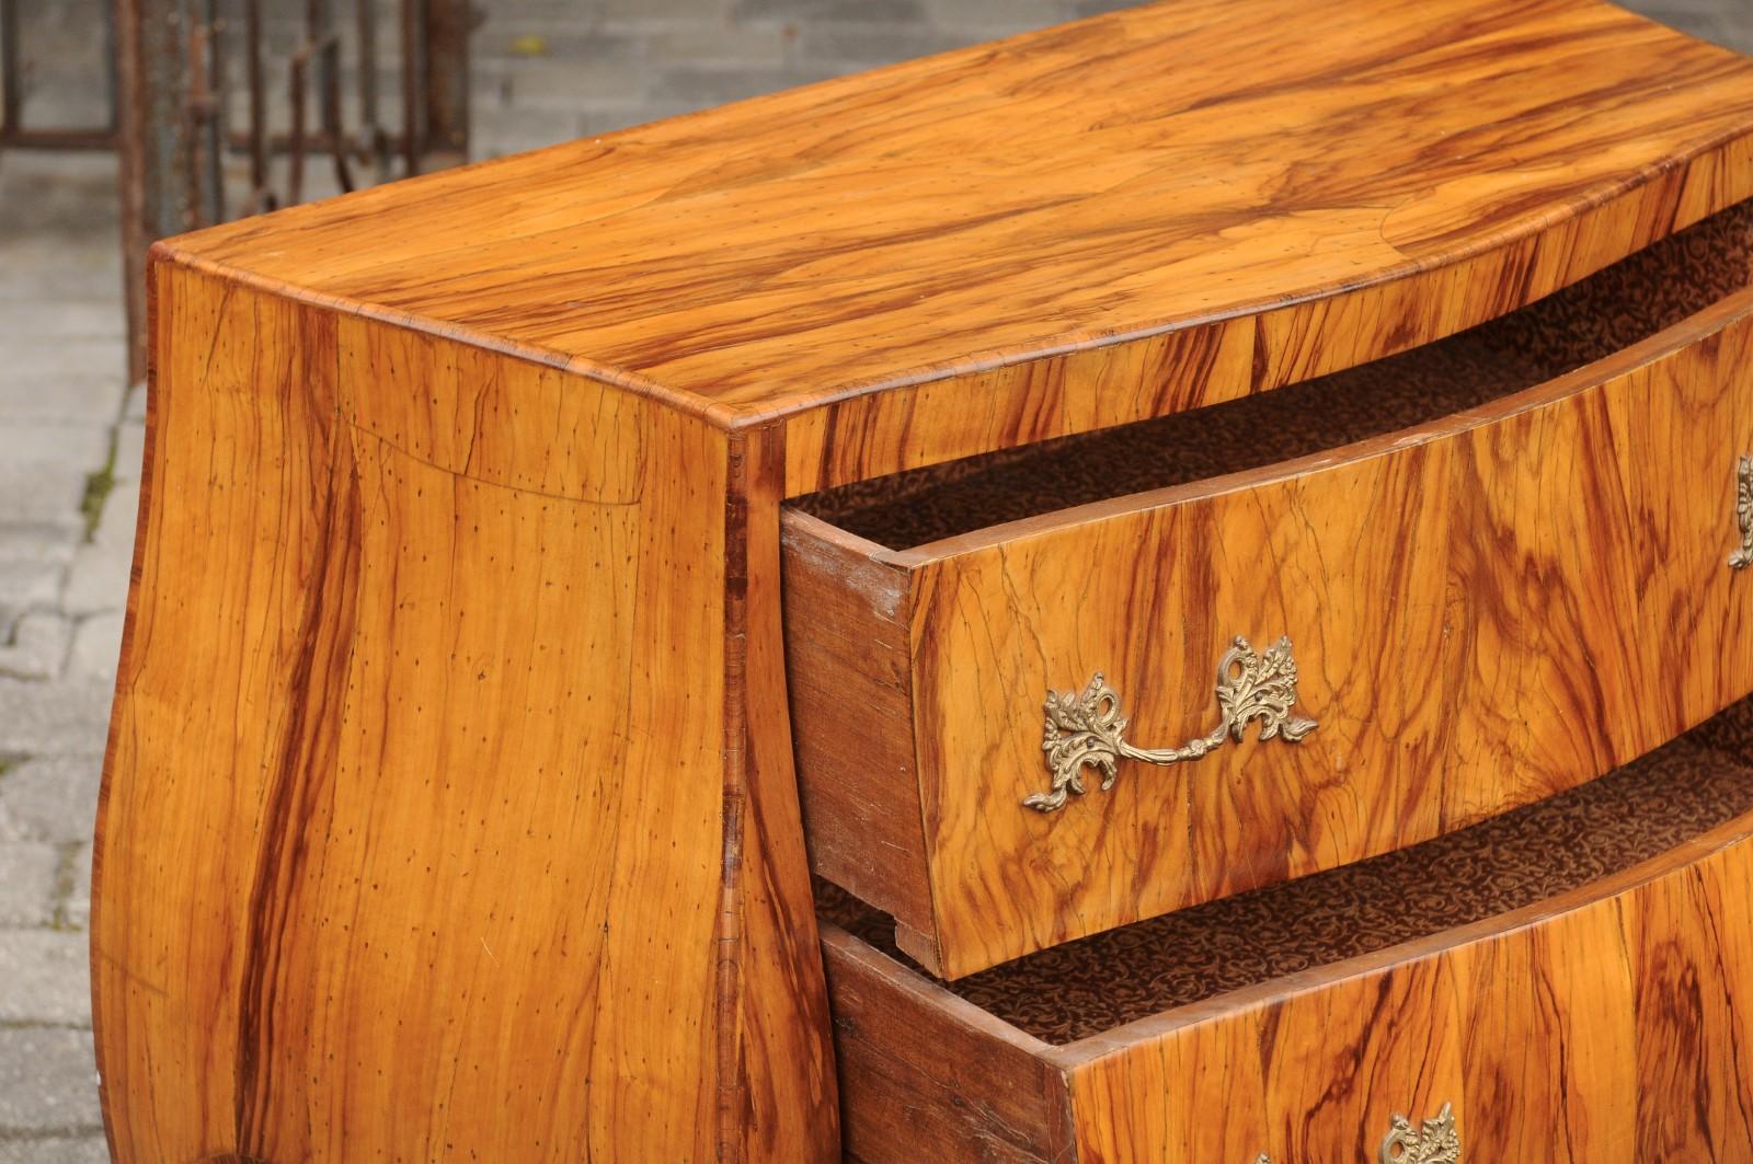
M 1749 240 L 1741 205 L 1402 356 L 801 498 L 815 869 L 955 978 L 1469 826 L 1753 691 Z

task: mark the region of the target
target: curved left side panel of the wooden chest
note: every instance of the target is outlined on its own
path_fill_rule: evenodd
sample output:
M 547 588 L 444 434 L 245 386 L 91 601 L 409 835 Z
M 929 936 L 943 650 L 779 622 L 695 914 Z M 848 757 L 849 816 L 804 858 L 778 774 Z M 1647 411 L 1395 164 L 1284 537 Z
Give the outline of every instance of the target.
M 775 438 L 154 280 L 116 1157 L 833 1159 Z

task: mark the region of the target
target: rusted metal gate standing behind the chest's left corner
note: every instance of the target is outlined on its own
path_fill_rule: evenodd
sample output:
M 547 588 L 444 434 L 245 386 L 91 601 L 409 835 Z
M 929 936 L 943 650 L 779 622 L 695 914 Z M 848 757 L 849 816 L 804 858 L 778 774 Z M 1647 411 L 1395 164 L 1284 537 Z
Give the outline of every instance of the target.
M 133 337 L 154 238 L 302 202 L 316 165 L 345 191 L 468 153 L 468 0 L 109 2 L 109 124 L 32 128 L 25 0 L 0 0 L 0 149 L 121 151 Z

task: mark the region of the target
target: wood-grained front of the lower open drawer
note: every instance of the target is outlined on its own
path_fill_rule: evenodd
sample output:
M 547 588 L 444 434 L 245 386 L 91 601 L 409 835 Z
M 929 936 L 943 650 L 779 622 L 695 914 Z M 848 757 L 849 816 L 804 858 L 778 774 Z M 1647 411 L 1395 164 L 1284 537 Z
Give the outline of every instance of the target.
M 1525 929 L 1138 1031 L 1073 1069 L 1076 1159 L 1374 1162 L 1395 1115 L 1446 1106 L 1462 1160 L 1753 1160 L 1749 882 L 1742 840 Z

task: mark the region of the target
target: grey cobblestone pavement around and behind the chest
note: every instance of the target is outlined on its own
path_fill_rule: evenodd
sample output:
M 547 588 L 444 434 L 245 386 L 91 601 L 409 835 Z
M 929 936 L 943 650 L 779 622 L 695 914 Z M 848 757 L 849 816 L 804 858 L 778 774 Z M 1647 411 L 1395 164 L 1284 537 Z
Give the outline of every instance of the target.
M 65 21 L 72 7 L 54 11 Z M 1118 5 L 477 7 L 475 153 L 494 156 Z M 1644 7 L 1753 51 L 1753 0 Z M 107 1159 L 86 975 L 89 836 L 144 415 L 121 373 L 116 238 L 109 158 L 0 154 L 0 1164 Z

